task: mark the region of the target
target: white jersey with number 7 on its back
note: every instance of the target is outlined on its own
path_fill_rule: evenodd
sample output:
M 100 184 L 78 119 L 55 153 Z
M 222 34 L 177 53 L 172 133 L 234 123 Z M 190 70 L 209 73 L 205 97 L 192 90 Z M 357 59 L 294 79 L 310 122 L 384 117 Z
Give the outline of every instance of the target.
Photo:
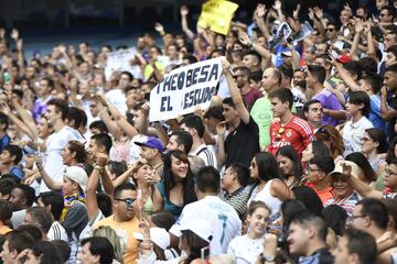
M 211 255 L 225 254 L 230 240 L 242 233 L 242 221 L 236 210 L 217 196 L 206 196 L 186 205 L 170 232 L 180 238 L 182 227 L 194 219 L 203 219 L 213 228 Z

